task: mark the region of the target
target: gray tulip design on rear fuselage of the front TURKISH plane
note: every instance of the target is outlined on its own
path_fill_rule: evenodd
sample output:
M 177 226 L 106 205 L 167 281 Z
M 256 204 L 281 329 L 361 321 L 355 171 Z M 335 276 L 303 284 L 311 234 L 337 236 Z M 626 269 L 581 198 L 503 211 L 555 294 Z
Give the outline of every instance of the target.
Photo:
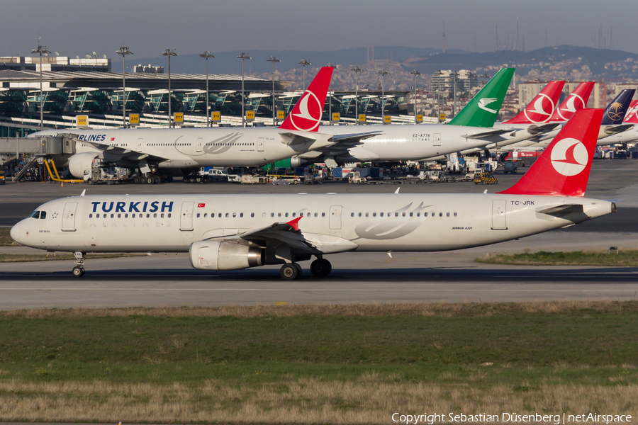
M 398 239 L 406 234 L 410 234 L 423 224 L 422 217 L 418 217 L 416 214 L 432 205 L 423 205 L 423 203 L 420 203 L 418 207 L 409 211 L 411 206 L 412 203 L 409 203 L 399 210 L 389 212 L 390 217 L 381 222 L 376 219 L 359 223 L 359 225 L 354 227 L 354 233 L 362 239 L 377 240 Z M 404 212 L 405 216 L 403 216 Z M 408 217 L 408 213 L 410 212 L 413 213 L 412 217 Z

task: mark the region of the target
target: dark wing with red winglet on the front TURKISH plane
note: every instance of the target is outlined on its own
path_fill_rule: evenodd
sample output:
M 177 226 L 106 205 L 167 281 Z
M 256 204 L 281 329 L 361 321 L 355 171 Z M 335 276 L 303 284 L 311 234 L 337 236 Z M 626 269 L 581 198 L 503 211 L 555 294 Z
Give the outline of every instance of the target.
M 318 251 L 316 246 L 308 242 L 301 234 L 301 230 L 299 230 L 298 222 L 301 218 L 297 217 L 289 222 L 276 222 L 261 229 L 237 234 L 230 239 L 244 239 L 262 246 L 272 245 L 274 242 L 275 245 L 284 244 L 308 254 L 318 254 L 320 251 Z

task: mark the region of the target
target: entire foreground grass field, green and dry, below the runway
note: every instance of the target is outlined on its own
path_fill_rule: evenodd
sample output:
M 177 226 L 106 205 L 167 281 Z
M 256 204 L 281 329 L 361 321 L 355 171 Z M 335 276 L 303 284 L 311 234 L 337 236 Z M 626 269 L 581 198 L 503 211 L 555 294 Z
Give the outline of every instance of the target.
M 637 319 L 612 301 L 0 312 L 0 421 L 638 414 Z

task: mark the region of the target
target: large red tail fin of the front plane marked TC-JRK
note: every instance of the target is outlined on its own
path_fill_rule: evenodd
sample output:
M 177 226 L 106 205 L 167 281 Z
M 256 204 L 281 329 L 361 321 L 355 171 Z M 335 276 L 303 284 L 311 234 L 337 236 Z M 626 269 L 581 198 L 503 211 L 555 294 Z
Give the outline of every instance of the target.
M 584 196 L 598 140 L 602 109 L 573 114 L 530 170 L 506 195 Z

